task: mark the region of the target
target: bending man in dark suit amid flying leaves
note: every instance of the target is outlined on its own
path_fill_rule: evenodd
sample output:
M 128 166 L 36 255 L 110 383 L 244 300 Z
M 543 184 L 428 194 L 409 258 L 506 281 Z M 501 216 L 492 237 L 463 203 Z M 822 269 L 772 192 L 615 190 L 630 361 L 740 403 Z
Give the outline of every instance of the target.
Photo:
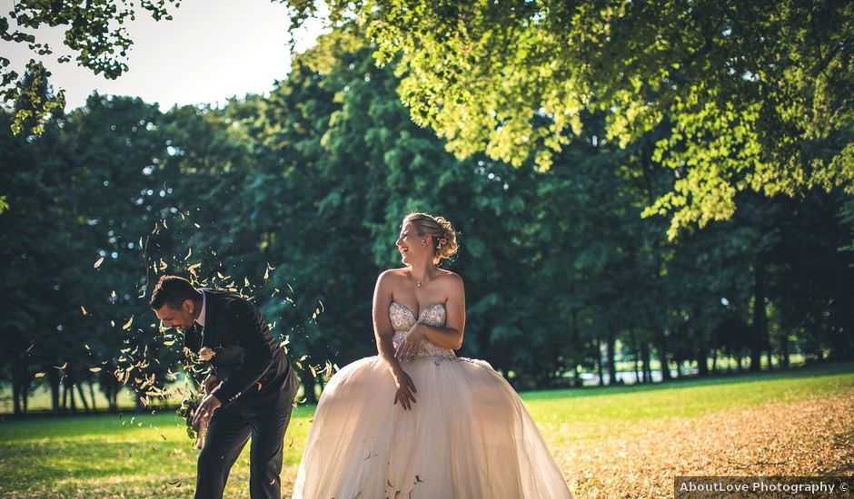
M 280 496 L 284 431 L 299 388 L 288 357 L 258 308 L 223 289 L 195 289 L 163 276 L 149 305 L 166 328 L 184 331 L 184 347 L 210 357 L 214 374 L 196 409 L 199 429 L 196 498 L 220 498 L 228 473 L 249 436 L 249 492 L 253 499 Z M 204 430 L 207 429 L 207 436 Z

